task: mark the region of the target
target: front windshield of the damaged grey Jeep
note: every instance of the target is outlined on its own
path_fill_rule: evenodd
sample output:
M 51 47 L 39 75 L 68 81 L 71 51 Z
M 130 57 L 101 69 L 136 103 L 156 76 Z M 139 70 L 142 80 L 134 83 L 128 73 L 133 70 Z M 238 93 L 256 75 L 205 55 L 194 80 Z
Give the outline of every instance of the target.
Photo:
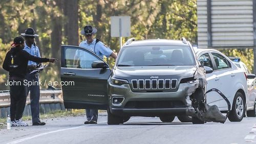
M 195 65 L 189 46 L 129 46 L 119 55 L 117 66 Z

